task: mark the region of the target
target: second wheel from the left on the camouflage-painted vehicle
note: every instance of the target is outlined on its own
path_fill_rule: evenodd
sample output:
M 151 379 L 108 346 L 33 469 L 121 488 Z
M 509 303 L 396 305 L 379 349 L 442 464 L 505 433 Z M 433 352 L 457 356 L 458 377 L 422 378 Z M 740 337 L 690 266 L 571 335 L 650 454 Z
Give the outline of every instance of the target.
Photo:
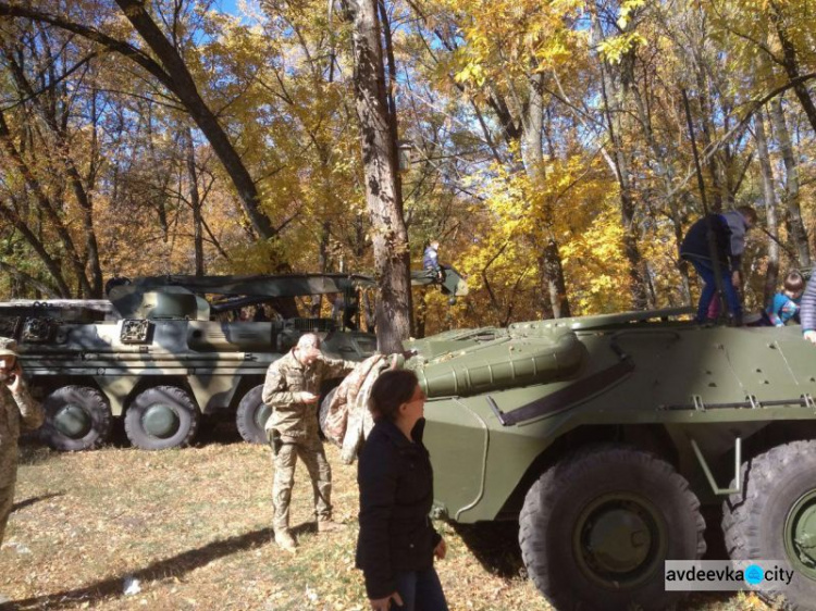
M 180 448 L 193 442 L 200 414 L 189 395 L 175 386 L 140 392 L 125 413 L 125 434 L 143 450 Z

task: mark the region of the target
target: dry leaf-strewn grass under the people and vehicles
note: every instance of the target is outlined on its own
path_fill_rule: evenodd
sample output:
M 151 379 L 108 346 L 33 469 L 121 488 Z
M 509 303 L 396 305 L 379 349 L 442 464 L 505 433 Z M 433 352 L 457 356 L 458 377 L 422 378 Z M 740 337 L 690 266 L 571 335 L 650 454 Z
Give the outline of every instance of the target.
M 222 434 L 184 450 L 104 448 L 58 453 L 24 446 L 15 511 L 0 549 L 0 608 L 362 611 L 354 569 L 356 465 L 333 466 L 341 533 L 318 535 L 298 464 L 292 520 L 297 556 L 272 543 L 270 451 Z M 547 610 L 526 578 L 511 525 L 438 524 L 437 563 L 452 611 Z M 139 591 L 124 594 L 125 582 Z M 683 609 L 767 610 L 754 597 L 698 596 Z

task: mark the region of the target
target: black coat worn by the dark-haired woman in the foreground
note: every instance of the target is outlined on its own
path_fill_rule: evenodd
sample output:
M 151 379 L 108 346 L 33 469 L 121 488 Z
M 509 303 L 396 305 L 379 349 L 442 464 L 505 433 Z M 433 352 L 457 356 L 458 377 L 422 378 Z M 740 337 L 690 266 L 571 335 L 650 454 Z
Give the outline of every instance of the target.
M 424 424 L 423 419 L 413 427 L 411 442 L 394 423 L 380 421 L 360 452 L 357 568 L 370 599 L 396 591 L 397 573 L 431 566 L 442 539 L 429 518 L 433 471 L 422 445 Z

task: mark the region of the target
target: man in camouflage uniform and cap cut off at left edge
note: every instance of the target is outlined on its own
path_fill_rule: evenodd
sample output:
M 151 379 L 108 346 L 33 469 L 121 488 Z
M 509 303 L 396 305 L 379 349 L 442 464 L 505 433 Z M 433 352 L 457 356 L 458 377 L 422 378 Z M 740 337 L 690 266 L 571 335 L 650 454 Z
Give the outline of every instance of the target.
M 44 419 L 42 408 L 23 384 L 13 339 L 0 338 L 0 544 L 14 501 L 21 425 L 37 428 Z

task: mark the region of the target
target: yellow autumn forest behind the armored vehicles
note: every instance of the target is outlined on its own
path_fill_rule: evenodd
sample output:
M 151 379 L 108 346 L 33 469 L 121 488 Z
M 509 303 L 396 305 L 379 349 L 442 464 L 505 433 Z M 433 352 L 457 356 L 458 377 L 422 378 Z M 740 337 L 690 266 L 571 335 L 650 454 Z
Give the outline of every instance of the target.
M 405 160 L 392 251 L 420 267 L 438 238 L 470 286 L 415 292 L 417 335 L 690 304 L 704 207 L 776 238 L 750 238 L 750 309 L 811 266 L 806 0 L 0 0 L 0 296 L 374 270 L 363 4 Z

